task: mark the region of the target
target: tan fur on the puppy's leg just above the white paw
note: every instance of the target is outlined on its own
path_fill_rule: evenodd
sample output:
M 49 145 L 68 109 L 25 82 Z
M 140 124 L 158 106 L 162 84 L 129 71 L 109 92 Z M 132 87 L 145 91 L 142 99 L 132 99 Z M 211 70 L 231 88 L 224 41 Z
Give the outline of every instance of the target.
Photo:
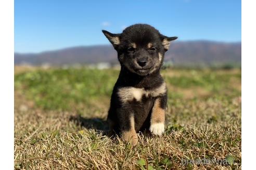
M 152 108 L 150 124 L 164 123 L 164 109 L 160 107 L 160 98 L 157 98 Z

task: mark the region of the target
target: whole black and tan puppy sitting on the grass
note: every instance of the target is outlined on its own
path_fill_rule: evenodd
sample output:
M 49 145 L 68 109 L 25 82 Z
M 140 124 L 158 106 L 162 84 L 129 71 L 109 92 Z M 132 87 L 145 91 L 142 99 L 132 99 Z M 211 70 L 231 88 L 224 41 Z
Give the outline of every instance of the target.
M 108 123 L 124 140 L 137 144 L 137 132 L 149 129 L 154 135 L 164 132 L 167 88 L 160 75 L 164 53 L 170 41 L 147 24 L 127 27 L 121 34 L 103 30 L 118 52 L 121 71 L 113 88 Z

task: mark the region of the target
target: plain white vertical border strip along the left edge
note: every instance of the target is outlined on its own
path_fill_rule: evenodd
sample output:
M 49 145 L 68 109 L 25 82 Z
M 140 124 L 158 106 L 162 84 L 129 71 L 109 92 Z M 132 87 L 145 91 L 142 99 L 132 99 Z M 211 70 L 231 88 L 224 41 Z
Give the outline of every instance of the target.
M 14 1 L 0 1 L 1 169 L 14 169 Z

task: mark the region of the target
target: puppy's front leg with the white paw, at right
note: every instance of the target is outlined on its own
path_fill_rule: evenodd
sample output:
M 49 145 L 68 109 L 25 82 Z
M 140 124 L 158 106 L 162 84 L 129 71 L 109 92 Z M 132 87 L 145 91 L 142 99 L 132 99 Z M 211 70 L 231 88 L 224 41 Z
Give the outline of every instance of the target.
M 164 132 L 165 107 L 167 94 L 156 98 L 152 108 L 149 131 L 153 135 L 161 136 Z

